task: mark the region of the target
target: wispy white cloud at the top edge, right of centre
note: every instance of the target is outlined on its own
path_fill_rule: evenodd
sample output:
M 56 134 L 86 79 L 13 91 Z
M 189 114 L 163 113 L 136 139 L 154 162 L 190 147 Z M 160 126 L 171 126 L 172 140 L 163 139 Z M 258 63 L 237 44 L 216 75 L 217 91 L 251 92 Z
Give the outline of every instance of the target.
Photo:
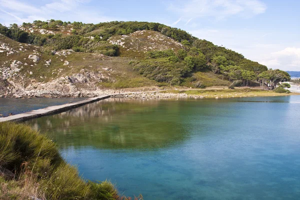
M 266 10 L 266 5 L 260 0 L 179 0 L 170 3 L 168 9 L 186 18 L 223 19 L 232 15 L 250 17 L 260 14 Z

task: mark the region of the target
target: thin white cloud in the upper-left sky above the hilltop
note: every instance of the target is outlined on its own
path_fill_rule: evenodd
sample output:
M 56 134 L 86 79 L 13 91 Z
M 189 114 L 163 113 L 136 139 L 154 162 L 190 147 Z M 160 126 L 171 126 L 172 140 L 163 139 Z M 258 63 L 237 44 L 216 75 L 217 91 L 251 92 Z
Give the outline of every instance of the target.
M 46 2 L 43 1 L 44 4 L 36 6 L 21 0 L 0 0 L 0 21 L 9 25 L 10 23 L 20 24 L 52 18 L 88 23 L 116 20 L 116 18 L 104 16 L 98 9 L 88 6 L 89 1 L 47 0 Z

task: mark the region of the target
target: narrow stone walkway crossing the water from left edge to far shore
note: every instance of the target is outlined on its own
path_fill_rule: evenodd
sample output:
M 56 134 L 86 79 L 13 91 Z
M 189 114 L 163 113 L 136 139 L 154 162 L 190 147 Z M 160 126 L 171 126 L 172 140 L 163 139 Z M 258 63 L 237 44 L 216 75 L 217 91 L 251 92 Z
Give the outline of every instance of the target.
M 82 105 L 96 102 L 105 98 L 109 98 L 112 95 L 119 95 L 119 94 L 131 94 L 131 93 L 146 93 L 146 92 L 156 92 L 156 91 L 137 91 L 137 92 L 126 92 L 126 93 L 112 93 L 112 94 L 105 94 L 101 96 L 96 96 L 96 97 L 91 97 L 86 100 L 81 100 L 78 102 L 73 102 L 73 103 L 66 103 L 62 105 L 54 105 L 54 106 L 49 106 L 37 110 L 32 110 L 29 112 L 21 113 L 21 114 L 15 114 L 7 117 L 1 117 L 0 122 L 3 121 L 25 121 L 31 118 L 37 118 L 45 115 L 51 115 L 51 114 L 57 114 L 60 112 L 64 112 L 67 110 L 70 110 L 72 108 L 80 107 Z

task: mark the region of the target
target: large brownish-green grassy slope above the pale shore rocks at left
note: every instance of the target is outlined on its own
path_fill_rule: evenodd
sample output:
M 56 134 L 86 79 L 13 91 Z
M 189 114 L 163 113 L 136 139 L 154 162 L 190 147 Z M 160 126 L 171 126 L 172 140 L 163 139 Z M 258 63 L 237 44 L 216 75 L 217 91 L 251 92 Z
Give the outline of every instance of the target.
M 43 82 L 50 81 L 55 78 L 70 76 L 74 73 L 80 73 L 81 69 L 90 72 L 100 72 L 105 77 L 103 82 L 99 82 L 98 86 L 103 88 L 124 88 L 124 87 L 139 87 L 147 85 L 159 85 L 154 80 L 149 80 L 134 71 L 128 64 L 129 59 L 126 57 L 109 57 L 99 53 L 83 53 L 72 52 L 69 55 L 50 55 L 42 53 L 42 47 L 19 43 L 8 37 L 0 35 L 0 43 L 9 44 L 10 48 L 18 50 L 22 45 L 27 49 L 26 51 L 15 52 L 12 55 L 6 56 L 6 52 L 0 53 L 1 67 L 8 67 L 13 60 L 19 60 L 23 64 L 23 69 L 18 74 L 23 75 L 25 86 L 29 82 Z M 34 62 L 28 59 L 30 54 L 33 54 L 33 50 L 39 53 L 40 61 L 34 65 Z M 25 58 L 25 59 L 24 59 Z M 44 65 L 46 60 L 51 59 L 49 66 Z M 62 60 L 62 61 L 61 61 Z M 63 65 L 64 60 L 69 61 L 68 65 Z M 6 62 L 7 61 L 7 62 Z M 24 63 L 28 65 L 24 65 Z M 33 66 L 30 66 L 33 65 Z M 109 70 L 103 69 L 108 68 Z M 29 72 L 32 72 L 30 75 Z M 54 72 L 54 73 L 53 73 Z

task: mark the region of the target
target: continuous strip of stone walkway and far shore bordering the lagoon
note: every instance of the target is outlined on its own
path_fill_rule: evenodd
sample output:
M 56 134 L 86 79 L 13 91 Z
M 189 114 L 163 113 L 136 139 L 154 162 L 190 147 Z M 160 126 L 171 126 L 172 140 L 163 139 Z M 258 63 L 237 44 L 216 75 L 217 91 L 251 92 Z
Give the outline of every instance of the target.
M 65 103 L 62 105 L 48 106 L 29 112 L 0 117 L 0 122 L 4 121 L 25 121 L 31 118 L 38 118 L 46 115 L 53 115 L 85 104 L 96 102 L 106 98 L 131 98 L 131 99 L 187 99 L 187 98 L 240 98 L 240 97 L 267 97 L 267 96 L 290 96 L 300 95 L 300 93 L 275 93 L 267 90 L 249 89 L 247 91 L 241 89 L 223 89 L 220 90 L 159 90 L 159 91 L 141 91 L 141 92 L 125 92 L 111 93 L 96 97 L 90 97 L 85 100 Z

